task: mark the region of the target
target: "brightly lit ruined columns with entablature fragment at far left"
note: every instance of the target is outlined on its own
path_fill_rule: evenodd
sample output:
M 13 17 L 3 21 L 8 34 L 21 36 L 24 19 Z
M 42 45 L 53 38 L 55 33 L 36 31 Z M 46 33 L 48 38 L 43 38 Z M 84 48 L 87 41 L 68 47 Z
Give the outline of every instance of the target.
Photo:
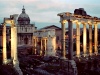
M 23 75 L 17 57 L 17 27 L 15 27 L 16 15 L 12 15 L 13 18 L 4 18 L 4 27 L 3 27 L 3 64 L 7 64 L 13 61 L 13 66 L 19 75 Z M 6 53 L 6 24 L 11 25 L 11 61 L 7 61 Z

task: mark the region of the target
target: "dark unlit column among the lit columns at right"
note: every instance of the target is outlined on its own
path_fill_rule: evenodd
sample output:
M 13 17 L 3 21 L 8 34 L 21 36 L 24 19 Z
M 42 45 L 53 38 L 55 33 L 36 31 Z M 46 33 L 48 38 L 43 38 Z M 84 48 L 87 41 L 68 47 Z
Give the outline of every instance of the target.
M 69 60 L 73 60 L 73 25 L 71 20 L 68 20 L 68 35 L 69 35 L 68 58 Z

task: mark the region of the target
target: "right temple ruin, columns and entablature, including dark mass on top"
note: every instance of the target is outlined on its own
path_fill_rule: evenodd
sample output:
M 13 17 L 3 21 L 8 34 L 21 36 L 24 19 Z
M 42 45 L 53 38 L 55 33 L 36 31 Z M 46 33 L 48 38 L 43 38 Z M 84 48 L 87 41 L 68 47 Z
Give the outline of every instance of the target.
M 81 10 L 81 11 L 80 11 Z M 70 13 L 70 12 L 63 12 L 63 13 L 59 13 L 57 14 L 58 16 L 60 16 L 60 22 L 62 24 L 62 31 L 63 31 L 63 51 L 65 53 L 65 23 L 68 22 L 68 29 L 69 29 L 69 42 L 70 42 L 70 47 L 69 47 L 69 51 L 73 50 L 71 48 L 73 48 L 73 23 L 76 24 L 76 55 L 77 57 L 80 57 L 80 25 L 83 25 L 83 56 L 86 57 L 86 55 L 88 54 L 87 52 L 87 38 L 86 38 L 86 32 L 87 32 L 87 28 L 86 25 L 89 26 L 89 55 L 91 56 L 93 54 L 92 51 L 92 25 L 94 25 L 94 54 L 98 54 L 98 49 L 97 49 L 97 45 L 98 45 L 98 32 L 97 32 L 97 27 L 98 24 L 100 23 L 100 18 L 98 17 L 92 17 L 90 15 L 87 15 L 87 13 L 85 13 L 85 10 L 83 9 L 78 9 L 78 12 L 76 13 L 74 11 L 74 13 Z M 72 52 L 71 52 L 72 53 Z M 65 56 L 65 54 L 64 54 Z M 72 57 L 72 54 L 71 54 Z

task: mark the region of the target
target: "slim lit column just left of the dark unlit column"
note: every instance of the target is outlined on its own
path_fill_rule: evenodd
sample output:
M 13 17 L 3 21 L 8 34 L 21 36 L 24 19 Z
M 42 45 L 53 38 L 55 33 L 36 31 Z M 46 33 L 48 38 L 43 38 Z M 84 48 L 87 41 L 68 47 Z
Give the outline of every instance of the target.
M 66 50 L 65 50 L 65 21 L 61 22 L 62 27 L 62 51 L 63 51 L 63 59 L 66 59 Z

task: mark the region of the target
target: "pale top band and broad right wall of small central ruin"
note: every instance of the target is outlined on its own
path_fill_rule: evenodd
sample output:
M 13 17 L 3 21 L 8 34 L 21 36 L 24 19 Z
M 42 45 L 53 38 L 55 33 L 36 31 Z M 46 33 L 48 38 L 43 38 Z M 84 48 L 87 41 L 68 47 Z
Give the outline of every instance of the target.
M 46 56 L 56 55 L 56 35 L 55 29 L 43 29 L 34 32 L 34 37 L 36 38 L 46 38 Z M 34 44 L 34 43 L 33 43 Z

